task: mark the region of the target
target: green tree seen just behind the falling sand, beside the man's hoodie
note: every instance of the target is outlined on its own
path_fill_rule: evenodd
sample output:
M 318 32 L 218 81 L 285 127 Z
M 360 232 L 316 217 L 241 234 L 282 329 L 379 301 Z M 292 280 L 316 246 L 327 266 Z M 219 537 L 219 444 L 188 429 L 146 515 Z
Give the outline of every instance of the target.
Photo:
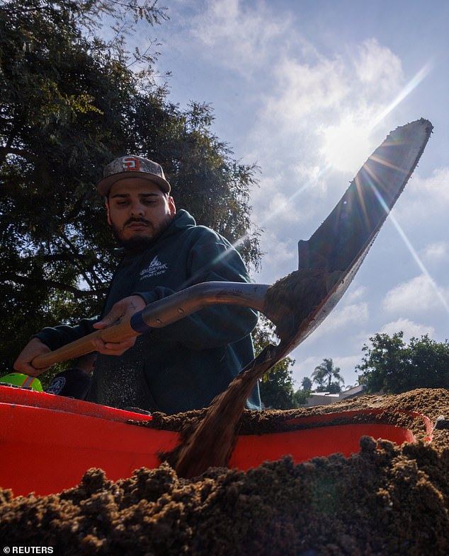
M 263 315 L 257 328 L 253 332 L 254 351 L 258 355 L 262 349 L 273 342 L 273 325 Z M 292 378 L 292 365 L 295 360 L 285 357 L 276 363 L 258 383 L 261 400 L 265 407 L 279 410 L 289 410 L 295 405 L 294 380 Z

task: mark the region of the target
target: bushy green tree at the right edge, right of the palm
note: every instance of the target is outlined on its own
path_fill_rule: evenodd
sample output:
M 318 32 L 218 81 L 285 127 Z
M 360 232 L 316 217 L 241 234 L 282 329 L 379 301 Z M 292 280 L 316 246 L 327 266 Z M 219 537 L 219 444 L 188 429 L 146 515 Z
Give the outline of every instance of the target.
M 366 391 L 401 393 L 414 388 L 449 388 L 449 343 L 412 337 L 407 345 L 404 332 L 376 334 L 364 344 L 358 378 Z

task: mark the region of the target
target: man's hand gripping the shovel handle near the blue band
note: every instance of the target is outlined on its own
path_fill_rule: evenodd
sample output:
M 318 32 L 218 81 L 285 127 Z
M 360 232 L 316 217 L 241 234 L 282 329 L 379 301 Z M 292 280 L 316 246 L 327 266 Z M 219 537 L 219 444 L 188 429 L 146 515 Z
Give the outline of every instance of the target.
M 109 313 L 103 317 L 103 320 L 95 323 L 93 328 L 102 330 L 103 328 L 118 324 L 124 319 L 131 318 L 137 311 L 142 311 L 145 305 L 144 299 L 140 296 L 125 297 L 115 303 Z M 136 336 L 124 340 L 123 342 L 103 342 L 100 338 L 95 338 L 92 340 L 92 344 L 96 352 L 103 355 L 121 355 L 125 353 L 127 349 L 130 349 L 130 347 L 135 344 L 135 341 Z

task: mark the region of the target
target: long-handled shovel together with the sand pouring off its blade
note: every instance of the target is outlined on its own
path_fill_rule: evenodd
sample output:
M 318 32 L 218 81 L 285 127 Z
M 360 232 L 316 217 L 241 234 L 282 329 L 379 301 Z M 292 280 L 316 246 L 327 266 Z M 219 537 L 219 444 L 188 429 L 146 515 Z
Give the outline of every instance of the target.
M 91 338 L 118 342 L 160 328 L 215 303 L 248 306 L 276 326 L 269 344 L 212 400 L 205 418 L 172 460 L 179 475 L 193 477 L 211 465 L 226 465 L 246 398 L 268 369 L 322 323 L 341 299 L 377 233 L 402 193 L 431 135 L 428 120 L 390 132 L 358 171 L 334 210 L 308 241 L 298 244 L 298 270 L 273 285 L 205 282 L 151 303 L 127 321 L 98 330 L 33 360 L 43 369 L 92 351 Z

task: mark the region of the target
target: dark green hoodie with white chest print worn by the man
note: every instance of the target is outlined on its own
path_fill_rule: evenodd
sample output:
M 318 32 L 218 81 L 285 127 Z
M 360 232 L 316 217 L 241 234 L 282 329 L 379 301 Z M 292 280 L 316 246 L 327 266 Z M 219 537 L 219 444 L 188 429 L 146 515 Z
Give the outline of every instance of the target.
M 192 284 L 249 282 L 232 245 L 210 228 L 196 226 L 188 212 L 176 214 L 149 249 L 126 255 L 110 287 L 103 315 L 124 297 L 146 303 Z M 93 330 L 98 318 L 77 327 L 45 328 L 38 334 L 51 349 Z M 167 414 L 210 405 L 254 357 L 251 330 L 257 313 L 239 306 L 210 306 L 165 328 L 137 337 L 122 356 L 99 355 L 88 400 L 113 407 L 140 407 Z M 260 409 L 258 389 L 247 407 Z

